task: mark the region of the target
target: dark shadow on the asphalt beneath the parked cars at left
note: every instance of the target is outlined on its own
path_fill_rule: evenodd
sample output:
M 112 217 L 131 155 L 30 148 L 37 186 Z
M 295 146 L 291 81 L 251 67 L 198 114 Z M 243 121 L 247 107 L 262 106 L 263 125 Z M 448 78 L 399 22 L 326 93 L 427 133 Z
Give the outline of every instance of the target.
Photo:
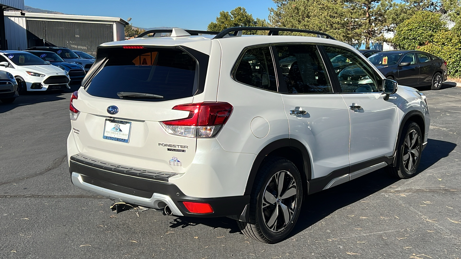
M 66 93 L 72 93 L 80 88 L 80 83 L 70 85 L 71 89 L 64 89 L 50 92 L 31 92 L 19 95 L 13 103 L 6 104 L 0 102 L 0 113 L 8 112 L 19 106 L 32 105 L 42 102 L 58 101 L 65 99 L 63 97 Z

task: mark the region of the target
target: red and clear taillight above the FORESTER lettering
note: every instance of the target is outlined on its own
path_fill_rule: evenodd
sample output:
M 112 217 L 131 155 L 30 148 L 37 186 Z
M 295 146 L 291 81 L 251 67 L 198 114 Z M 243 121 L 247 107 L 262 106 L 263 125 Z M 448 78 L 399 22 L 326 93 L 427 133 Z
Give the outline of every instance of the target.
M 210 138 L 219 130 L 231 116 L 233 107 L 226 102 L 203 102 L 177 105 L 173 110 L 188 111 L 187 118 L 162 121 L 166 132 L 185 137 Z

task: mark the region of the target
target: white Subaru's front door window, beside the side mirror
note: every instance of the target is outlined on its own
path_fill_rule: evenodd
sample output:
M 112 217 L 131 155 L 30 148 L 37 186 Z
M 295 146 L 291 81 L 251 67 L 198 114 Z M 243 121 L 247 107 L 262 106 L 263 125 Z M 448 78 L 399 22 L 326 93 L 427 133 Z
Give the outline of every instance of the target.
M 379 92 L 375 72 L 355 53 L 337 47 L 325 46 L 343 93 Z M 386 60 L 387 62 L 387 60 Z

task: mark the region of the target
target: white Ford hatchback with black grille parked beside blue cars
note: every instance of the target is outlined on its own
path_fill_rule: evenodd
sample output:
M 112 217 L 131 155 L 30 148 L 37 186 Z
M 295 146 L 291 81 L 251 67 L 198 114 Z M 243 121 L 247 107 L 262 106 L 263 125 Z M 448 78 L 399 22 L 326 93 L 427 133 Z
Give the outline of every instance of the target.
M 25 51 L 0 51 L 0 70 L 15 77 L 19 93 L 70 88 L 66 71 Z

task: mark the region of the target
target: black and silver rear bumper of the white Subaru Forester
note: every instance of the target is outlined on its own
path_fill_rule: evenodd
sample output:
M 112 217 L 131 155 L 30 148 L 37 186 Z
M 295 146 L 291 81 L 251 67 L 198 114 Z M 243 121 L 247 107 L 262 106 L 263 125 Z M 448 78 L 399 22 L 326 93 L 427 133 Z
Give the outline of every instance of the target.
M 159 180 L 149 179 L 153 177 L 135 176 L 132 170 L 127 173 L 109 171 L 85 165 L 71 157 L 69 172 L 72 183 L 78 188 L 108 197 L 112 200 L 120 200 L 131 204 L 145 206 L 153 209 L 163 209 L 169 206 L 173 215 L 188 217 L 225 217 L 245 221 L 245 207 L 249 204 L 249 196 L 231 196 L 216 198 L 189 197 L 173 183 L 168 182 L 169 177 L 160 177 Z M 102 162 L 102 161 L 99 161 Z M 101 164 L 101 163 L 99 163 Z M 110 163 L 108 163 L 110 164 Z M 130 171 L 130 172 L 128 172 Z M 183 205 L 183 201 L 208 203 L 213 208 L 212 213 L 190 213 Z

